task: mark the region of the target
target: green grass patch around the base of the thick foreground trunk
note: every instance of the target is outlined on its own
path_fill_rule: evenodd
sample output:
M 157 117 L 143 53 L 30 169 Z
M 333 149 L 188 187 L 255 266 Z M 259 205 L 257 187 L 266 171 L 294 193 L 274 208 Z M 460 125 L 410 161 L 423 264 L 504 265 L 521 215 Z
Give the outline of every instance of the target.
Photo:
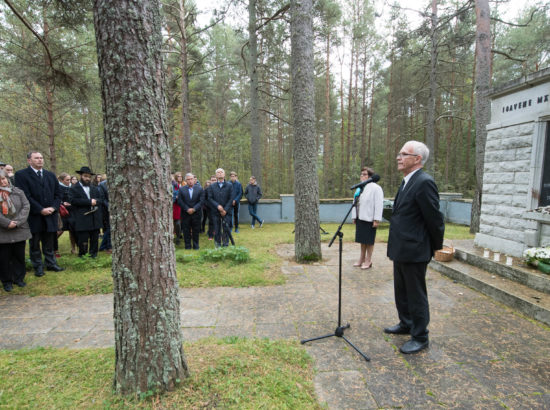
M 297 342 L 229 337 L 184 347 L 191 377 L 144 400 L 112 393 L 113 349 L 0 351 L 2 408 L 320 408 Z

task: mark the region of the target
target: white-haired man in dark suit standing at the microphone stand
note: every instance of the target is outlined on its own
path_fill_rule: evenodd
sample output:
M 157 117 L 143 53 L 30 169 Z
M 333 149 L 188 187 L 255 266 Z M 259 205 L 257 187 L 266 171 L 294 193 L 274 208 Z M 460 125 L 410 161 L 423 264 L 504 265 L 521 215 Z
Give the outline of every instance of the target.
M 405 354 L 417 353 L 429 345 L 426 268 L 434 251 L 443 246 L 445 233 L 437 186 L 421 169 L 429 154 L 425 144 L 409 141 L 397 155 L 397 169 L 404 179 L 393 205 L 388 257 L 393 261 L 399 323 L 385 328 L 384 332 L 411 335 L 399 349 Z

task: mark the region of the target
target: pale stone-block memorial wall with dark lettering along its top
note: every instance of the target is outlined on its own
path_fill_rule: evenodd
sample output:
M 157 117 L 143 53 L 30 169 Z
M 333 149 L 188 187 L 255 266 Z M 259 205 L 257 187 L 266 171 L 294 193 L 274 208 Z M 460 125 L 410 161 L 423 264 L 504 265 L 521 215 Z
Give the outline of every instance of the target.
M 550 243 L 549 227 L 529 216 L 538 206 L 549 89 L 545 70 L 493 91 L 478 246 L 519 257 Z

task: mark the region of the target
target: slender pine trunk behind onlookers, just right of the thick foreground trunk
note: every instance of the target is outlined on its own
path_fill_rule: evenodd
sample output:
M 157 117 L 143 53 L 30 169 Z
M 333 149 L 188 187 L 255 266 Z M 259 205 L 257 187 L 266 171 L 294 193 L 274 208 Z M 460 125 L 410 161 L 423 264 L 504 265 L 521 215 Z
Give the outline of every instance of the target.
M 191 120 L 189 118 L 189 78 L 187 76 L 187 29 L 185 24 L 185 1 L 179 0 L 180 65 L 181 65 L 181 132 L 183 142 L 183 170 L 192 171 Z

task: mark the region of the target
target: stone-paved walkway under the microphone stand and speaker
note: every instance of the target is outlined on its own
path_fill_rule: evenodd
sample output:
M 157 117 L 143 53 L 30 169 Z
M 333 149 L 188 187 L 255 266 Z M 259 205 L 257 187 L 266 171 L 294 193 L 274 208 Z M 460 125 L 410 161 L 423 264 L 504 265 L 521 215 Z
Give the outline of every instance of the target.
M 391 262 L 377 244 L 373 269 L 352 264 L 344 244 L 342 324 L 345 336 L 371 357 L 365 362 L 342 339 L 306 344 L 315 359 L 315 389 L 331 409 L 550 408 L 550 329 L 429 271 L 430 348 L 398 352 L 406 336 L 382 332 L 397 322 Z M 181 289 L 186 340 L 206 336 L 300 340 L 337 325 L 338 246 L 323 247 L 321 264 L 285 258 L 284 286 Z M 112 346 L 112 295 L 0 296 L 0 349 Z

